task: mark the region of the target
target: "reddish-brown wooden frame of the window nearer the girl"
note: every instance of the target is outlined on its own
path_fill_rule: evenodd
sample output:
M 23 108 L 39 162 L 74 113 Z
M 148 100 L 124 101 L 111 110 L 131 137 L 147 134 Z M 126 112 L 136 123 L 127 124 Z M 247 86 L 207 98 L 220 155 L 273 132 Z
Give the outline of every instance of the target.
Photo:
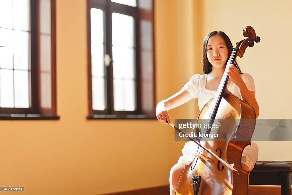
M 140 6 L 148 1 L 148 5 L 151 8 L 145 8 L 145 6 Z M 113 109 L 113 72 L 112 72 L 112 62 L 109 66 L 105 67 L 106 80 L 106 108 L 104 111 L 96 111 L 92 108 L 92 73 L 91 73 L 91 8 L 102 9 L 105 15 L 104 29 L 105 32 L 105 53 L 112 57 L 112 13 L 117 12 L 126 15 L 132 15 L 135 25 L 135 48 L 136 48 L 136 110 L 135 111 L 114 111 Z M 129 14 L 131 13 L 131 14 Z M 87 26 L 88 26 L 88 110 L 89 115 L 87 119 L 145 119 L 145 118 L 155 118 L 155 80 L 154 80 L 154 19 L 153 19 L 153 0 L 137 0 L 137 7 L 131 7 L 123 4 L 118 4 L 111 2 L 110 0 L 88 0 L 87 1 Z M 142 36 L 141 22 L 147 20 L 152 25 L 152 31 L 144 36 Z M 151 40 L 149 40 L 149 37 Z M 148 40 L 143 40 L 148 39 Z M 151 42 L 151 54 L 152 59 L 145 59 L 142 57 L 143 44 L 146 42 Z M 150 64 L 149 64 L 150 62 Z M 150 74 L 147 71 L 149 70 Z M 148 83 L 147 83 L 148 82 Z M 109 95 L 107 97 L 107 95 Z

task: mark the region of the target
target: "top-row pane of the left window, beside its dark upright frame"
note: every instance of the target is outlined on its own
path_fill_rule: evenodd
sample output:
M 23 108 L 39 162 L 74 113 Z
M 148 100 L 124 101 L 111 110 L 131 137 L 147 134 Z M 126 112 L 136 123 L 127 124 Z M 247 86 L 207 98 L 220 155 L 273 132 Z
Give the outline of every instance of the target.
M 28 0 L 13 0 L 13 30 L 28 31 Z

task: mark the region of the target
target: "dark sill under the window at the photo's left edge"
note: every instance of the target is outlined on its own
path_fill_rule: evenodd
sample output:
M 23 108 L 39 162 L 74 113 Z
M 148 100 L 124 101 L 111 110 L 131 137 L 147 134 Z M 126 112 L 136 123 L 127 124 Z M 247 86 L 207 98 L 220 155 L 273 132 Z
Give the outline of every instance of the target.
M 1 114 L 0 120 L 59 120 L 60 116 L 39 114 Z

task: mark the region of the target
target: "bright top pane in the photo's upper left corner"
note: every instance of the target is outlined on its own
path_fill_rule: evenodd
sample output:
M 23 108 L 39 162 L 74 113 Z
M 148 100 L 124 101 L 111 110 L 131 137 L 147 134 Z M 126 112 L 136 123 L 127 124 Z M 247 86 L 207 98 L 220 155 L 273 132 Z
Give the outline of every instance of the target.
M 11 0 L 0 0 L 0 27 L 12 29 Z

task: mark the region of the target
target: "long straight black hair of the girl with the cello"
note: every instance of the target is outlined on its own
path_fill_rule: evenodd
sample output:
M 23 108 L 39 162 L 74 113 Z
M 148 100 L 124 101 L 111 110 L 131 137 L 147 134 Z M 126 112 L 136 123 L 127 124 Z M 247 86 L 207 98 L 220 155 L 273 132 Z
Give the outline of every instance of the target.
M 203 61 L 204 74 L 208 74 L 212 71 L 212 64 L 208 61 L 208 58 L 207 58 L 207 44 L 208 44 L 209 38 L 216 35 L 216 34 L 220 35 L 225 40 L 225 43 L 226 43 L 226 46 L 228 49 L 228 59 L 230 58 L 232 50 L 233 50 L 232 43 L 231 43 L 229 37 L 224 32 L 213 31 L 213 32 L 210 32 L 209 34 L 207 34 L 204 41 L 203 41 L 203 60 L 202 61 Z M 228 61 L 228 59 L 227 59 L 227 61 Z M 226 61 L 226 63 L 227 63 L 227 61 Z M 226 64 L 225 64 L 225 66 L 226 66 Z M 234 66 L 238 69 L 239 74 L 242 74 L 241 70 L 237 64 L 237 61 L 234 62 Z

